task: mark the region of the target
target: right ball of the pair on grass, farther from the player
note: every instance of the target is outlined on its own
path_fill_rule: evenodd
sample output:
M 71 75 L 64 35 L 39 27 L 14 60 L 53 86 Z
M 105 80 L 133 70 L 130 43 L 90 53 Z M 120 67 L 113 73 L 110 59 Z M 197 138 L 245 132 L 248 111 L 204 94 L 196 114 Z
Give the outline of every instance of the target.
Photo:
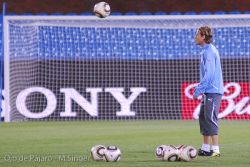
M 116 146 L 108 146 L 104 151 L 104 159 L 107 162 L 116 162 L 121 159 L 121 150 Z

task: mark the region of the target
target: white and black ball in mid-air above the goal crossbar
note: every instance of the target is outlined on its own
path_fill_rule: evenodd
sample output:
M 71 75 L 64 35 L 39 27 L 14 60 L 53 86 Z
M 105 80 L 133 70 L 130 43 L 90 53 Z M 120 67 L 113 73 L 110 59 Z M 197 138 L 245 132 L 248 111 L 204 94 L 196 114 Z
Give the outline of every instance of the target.
M 99 2 L 94 6 L 94 14 L 97 17 L 105 18 L 110 15 L 110 6 L 107 2 Z

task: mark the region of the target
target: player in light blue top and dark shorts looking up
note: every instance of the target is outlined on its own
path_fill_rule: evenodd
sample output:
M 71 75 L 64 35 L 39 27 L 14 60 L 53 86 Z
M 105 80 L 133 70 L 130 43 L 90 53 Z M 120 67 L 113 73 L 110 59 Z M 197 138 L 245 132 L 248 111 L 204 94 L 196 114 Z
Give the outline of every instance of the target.
M 196 31 L 195 42 L 203 49 L 200 60 L 200 83 L 193 95 L 194 99 L 202 95 L 199 125 L 203 144 L 198 151 L 199 156 L 220 156 L 218 113 L 224 91 L 220 56 L 212 44 L 212 37 L 211 28 L 208 26 L 200 27 Z

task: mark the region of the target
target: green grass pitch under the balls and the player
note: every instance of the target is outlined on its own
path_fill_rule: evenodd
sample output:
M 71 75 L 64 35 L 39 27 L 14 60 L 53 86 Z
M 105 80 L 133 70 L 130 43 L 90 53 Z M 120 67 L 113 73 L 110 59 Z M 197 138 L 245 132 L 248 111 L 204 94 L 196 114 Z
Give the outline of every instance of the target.
M 0 166 L 250 166 L 250 122 L 220 121 L 221 157 L 198 157 L 193 162 L 161 162 L 154 151 L 160 144 L 200 147 L 197 121 L 82 121 L 0 124 Z M 116 145 L 121 161 L 95 162 L 93 145 Z

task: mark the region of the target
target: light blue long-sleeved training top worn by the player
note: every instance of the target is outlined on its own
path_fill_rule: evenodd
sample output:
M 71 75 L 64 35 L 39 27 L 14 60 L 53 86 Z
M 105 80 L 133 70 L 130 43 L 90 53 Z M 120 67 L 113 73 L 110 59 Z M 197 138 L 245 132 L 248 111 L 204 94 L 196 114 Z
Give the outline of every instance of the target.
M 203 46 L 200 62 L 200 83 L 195 88 L 194 96 L 203 93 L 223 94 L 223 78 L 218 50 L 212 44 Z

